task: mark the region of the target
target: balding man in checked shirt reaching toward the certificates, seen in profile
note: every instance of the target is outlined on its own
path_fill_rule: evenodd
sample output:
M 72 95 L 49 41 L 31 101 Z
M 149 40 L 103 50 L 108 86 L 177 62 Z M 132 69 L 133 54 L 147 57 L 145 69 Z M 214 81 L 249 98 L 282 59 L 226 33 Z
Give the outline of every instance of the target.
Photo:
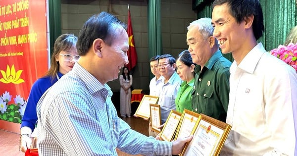
M 101 12 L 83 25 L 77 41 L 81 55 L 37 104 L 39 156 L 116 156 L 180 154 L 193 136 L 164 142 L 132 130 L 117 116 L 106 84 L 128 63 L 126 25 Z

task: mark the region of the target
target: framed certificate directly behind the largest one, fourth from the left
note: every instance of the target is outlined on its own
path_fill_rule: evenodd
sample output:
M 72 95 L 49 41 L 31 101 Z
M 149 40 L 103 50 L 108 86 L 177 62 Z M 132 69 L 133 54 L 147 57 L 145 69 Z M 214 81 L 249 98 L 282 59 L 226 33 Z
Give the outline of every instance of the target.
M 184 109 L 174 140 L 189 137 L 200 119 L 200 114 Z

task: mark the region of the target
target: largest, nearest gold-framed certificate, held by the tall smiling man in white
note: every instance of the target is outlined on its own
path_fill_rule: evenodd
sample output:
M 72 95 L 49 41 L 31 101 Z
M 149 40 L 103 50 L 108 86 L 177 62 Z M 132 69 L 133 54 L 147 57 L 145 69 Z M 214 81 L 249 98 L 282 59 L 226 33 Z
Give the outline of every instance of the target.
M 193 139 L 181 156 L 218 156 L 231 126 L 204 114 L 193 129 Z

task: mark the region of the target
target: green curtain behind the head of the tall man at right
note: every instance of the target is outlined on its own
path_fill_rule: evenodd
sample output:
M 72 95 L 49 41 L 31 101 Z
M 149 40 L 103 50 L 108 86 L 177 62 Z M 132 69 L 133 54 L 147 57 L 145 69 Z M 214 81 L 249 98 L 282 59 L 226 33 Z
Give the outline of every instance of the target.
M 193 9 L 197 18 L 211 17 L 211 5 L 214 0 L 193 0 Z M 262 42 L 266 51 L 285 43 L 292 28 L 297 25 L 297 0 L 260 0 L 265 32 L 258 41 Z M 224 54 L 233 61 L 230 54 Z

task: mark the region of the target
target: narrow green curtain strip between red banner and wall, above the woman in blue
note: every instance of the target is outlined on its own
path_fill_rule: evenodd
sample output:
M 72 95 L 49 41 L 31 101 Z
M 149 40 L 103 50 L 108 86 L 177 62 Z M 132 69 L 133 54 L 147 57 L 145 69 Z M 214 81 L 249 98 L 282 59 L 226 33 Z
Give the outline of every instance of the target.
M 61 0 L 49 0 L 49 44 L 50 55 L 53 52 L 53 44 L 61 35 Z

